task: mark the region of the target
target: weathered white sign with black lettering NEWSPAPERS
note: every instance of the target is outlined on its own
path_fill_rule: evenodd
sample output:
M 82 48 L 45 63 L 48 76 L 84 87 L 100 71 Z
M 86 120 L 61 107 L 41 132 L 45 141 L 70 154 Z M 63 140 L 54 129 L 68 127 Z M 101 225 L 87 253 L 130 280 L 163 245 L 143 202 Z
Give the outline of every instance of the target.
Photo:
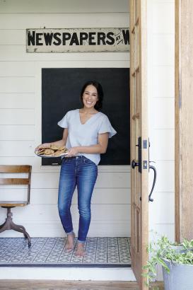
M 26 33 L 26 52 L 129 52 L 129 28 L 43 28 Z

